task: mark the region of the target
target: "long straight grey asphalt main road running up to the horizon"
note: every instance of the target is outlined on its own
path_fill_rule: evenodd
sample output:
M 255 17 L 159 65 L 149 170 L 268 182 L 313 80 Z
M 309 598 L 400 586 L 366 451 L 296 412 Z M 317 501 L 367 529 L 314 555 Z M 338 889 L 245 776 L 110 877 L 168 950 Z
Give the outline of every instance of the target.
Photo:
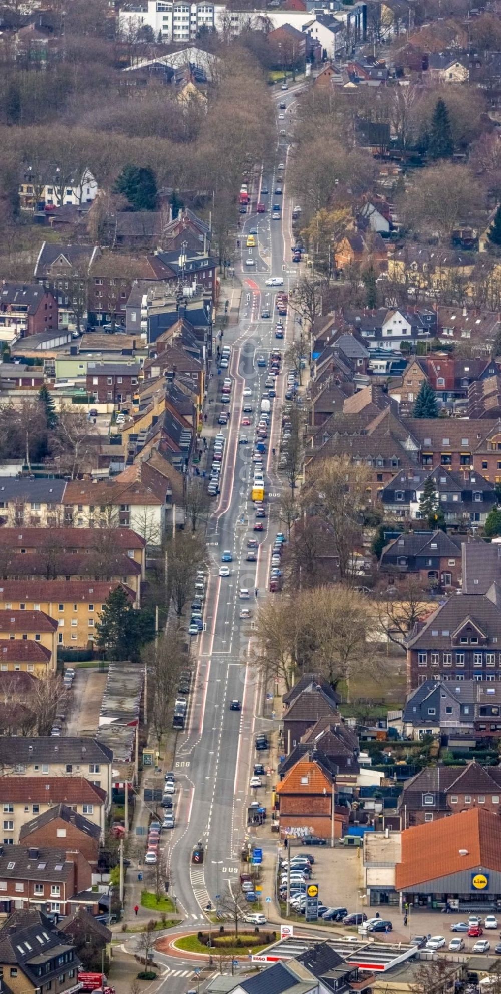
M 293 113 L 294 89 L 277 90 L 276 104 L 286 99 Z M 283 112 L 283 111 L 280 111 Z M 277 149 L 275 166 L 262 170 L 257 186 L 252 191 L 252 203 L 262 199 L 266 213 L 241 215 L 242 297 L 239 326 L 225 331 L 225 345 L 232 346 L 229 373 L 233 380 L 231 418 L 226 435 L 225 460 L 221 479 L 221 492 L 208 526 L 210 576 L 206 591 L 203 631 L 192 647 L 197 655 L 197 677 L 193 693 L 190 720 L 186 732 L 179 737 L 176 753 L 178 779 L 177 828 L 172 835 L 165 857 L 169 866 L 171 892 L 175 894 L 180 911 L 185 914 L 185 925 L 201 927 L 207 922 L 204 909 L 211 901 L 216 907 L 218 895 L 224 900 L 232 886 L 238 885 L 240 852 L 246 839 L 247 811 L 251 797 L 250 777 L 254 761 L 253 736 L 266 728 L 260 718 L 262 687 L 247 665 L 252 623 L 257 602 L 266 596 L 269 549 L 276 525 L 269 519 L 269 508 L 279 496 L 281 483 L 273 472 L 271 449 L 278 451 L 280 408 L 283 397 L 283 376 L 278 378 L 276 398 L 271 402 L 270 431 L 266 439 L 264 470 L 266 493 L 265 531 L 254 533 L 254 514 L 251 503 L 251 441 L 255 432 L 256 412 L 259 410 L 267 368 L 257 368 L 255 360 L 260 353 L 271 348 L 285 350 L 293 338 L 294 315 L 290 308 L 283 340 L 274 339 L 275 290 L 265 286 L 268 276 L 281 276 L 283 289 L 290 291 L 298 275 L 298 266 L 291 262 L 291 211 L 287 195 L 285 170 L 277 170 L 278 163 L 286 165 L 287 138 L 279 136 L 283 121 L 277 120 Z M 281 196 L 274 190 L 277 183 Z M 261 194 L 267 187 L 267 195 Z M 271 219 L 271 205 L 281 202 L 279 221 Z M 250 229 L 257 229 L 256 248 L 247 248 Z M 252 265 L 247 258 L 253 259 Z M 261 320 L 263 308 L 270 311 L 269 320 Z M 267 357 L 267 356 L 266 356 Z M 228 375 L 228 373 L 227 373 Z M 251 396 L 244 397 L 244 391 Z M 243 427 L 242 409 L 245 401 L 253 408 L 252 424 Z M 250 444 L 240 444 L 240 436 L 249 435 Z M 257 562 L 247 561 L 248 540 L 259 541 Z M 223 551 L 230 550 L 233 562 L 231 576 L 219 577 Z M 241 590 L 250 591 L 250 599 L 241 598 Z M 257 588 L 257 600 L 254 589 Z M 251 620 L 240 617 L 243 606 L 251 607 Z M 242 712 L 230 711 L 230 702 L 239 699 Z M 265 762 L 266 753 L 259 754 Z M 258 791 L 257 791 L 258 797 Z M 191 862 L 193 847 L 202 841 L 205 858 L 202 865 Z M 162 957 L 164 959 L 164 957 Z M 170 967 L 169 991 L 173 994 L 186 991 L 189 983 L 185 976 L 173 971 L 179 962 L 164 962 Z M 176 964 L 176 966 L 175 966 Z M 192 985 L 193 986 L 193 985 Z

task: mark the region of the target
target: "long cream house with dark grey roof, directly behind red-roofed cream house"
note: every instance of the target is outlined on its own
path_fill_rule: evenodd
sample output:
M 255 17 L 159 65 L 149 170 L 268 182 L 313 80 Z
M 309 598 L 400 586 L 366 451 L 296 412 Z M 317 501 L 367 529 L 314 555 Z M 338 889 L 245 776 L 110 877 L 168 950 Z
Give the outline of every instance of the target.
M 86 776 L 111 796 L 113 753 L 89 738 L 0 737 L 0 771 L 26 776 Z

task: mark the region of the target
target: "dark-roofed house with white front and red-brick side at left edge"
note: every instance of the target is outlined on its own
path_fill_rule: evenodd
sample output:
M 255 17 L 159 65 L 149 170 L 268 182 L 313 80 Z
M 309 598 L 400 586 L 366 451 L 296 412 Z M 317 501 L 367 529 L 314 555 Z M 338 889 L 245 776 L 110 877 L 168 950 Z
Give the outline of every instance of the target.
M 58 302 L 39 283 L 2 282 L 0 288 L 0 339 L 12 344 L 18 338 L 58 327 Z

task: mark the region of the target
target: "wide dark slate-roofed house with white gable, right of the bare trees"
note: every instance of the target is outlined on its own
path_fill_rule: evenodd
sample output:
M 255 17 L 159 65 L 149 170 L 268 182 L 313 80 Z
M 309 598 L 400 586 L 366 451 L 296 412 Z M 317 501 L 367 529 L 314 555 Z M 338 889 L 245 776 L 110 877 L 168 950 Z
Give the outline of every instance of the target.
M 421 497 L 426 481 L 430 480 L 435 488 L 436 509 L 441 511 L 447 525 L 485 524 L 489 511 L 496 506 L 496 488 L 481 473 L 469 469 L 453 473 L 438 466 L 431 472 L 416 468 L 397 473 L 381 494 L 385 513 L 420 519 Z

